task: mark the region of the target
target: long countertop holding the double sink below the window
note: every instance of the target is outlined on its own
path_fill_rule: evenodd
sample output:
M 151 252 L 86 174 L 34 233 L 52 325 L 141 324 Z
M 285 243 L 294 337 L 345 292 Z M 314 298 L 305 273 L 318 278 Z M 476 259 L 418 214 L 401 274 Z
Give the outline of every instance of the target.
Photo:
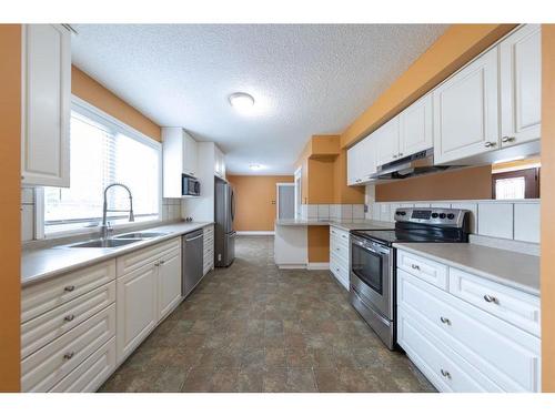
M 149 245 L 157 244 L 182 234 L 190 233 L 210 224 L 212 223 L 181 222 L 141 230 L 141 232 L 164 232 L 168 234 L 113 248 L 70 248 L 61 245 L 49 248 L 23 251 L 21 255 L 21 285 L 28 286 L 42 282 L 62 273 L 74 271 L 139 248 L 144 248 Z

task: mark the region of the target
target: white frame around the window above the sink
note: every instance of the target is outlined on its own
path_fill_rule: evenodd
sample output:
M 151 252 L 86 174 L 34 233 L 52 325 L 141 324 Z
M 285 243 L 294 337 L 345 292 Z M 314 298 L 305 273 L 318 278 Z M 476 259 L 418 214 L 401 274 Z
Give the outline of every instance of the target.
M 142 221 L 140 223 L 124 223 L 124 224 L 114 224 L 114 231 L 124 231 L 130 227 L 134 227 L 138 224 L 140 225 L 150 225 L 160 223 L 163 220 L 163 205 L 162 205 L 162 185 L 163 185 L 163 166 L 162 166 L 162 143 L 158 142 L 154 139 L 149 138 L 148 135 L 141 133 L 140 131 L 133 129 L 129 124 L 123 123 L 117 118 L 108 114 L 107 112 L 100 110 L 99 108 L 90 104 L 89 102 L 80 99 L 77 95 L 71 95 L 71 111 L 75 111 L 81 115 L 89 118 L 90 120 L 107 126 L 108 129 L 115 131 L 118 133 L 124 134 L 138 142 L 148 145 L 157 151 L 158 154 L 158 165 L 159 165 L 159 177 L 158 177 L 158 219 Z M 71 138 L 70 138 L 71 141 Z M 49 240 L 49 239 L 59 239 L 71 235 L 79 234 L 90 234 L 100 231 L 100 226 L 94 227 L 82 227 L 75 230 L 67 230 L 60 231 L 56 233 L 46 234 L 46 223 L 44 223 L 44 189 L 42 186 L 34 187 L 34 239 L 36 240 Z M 101 217 L 100 215 L 99 217 Z

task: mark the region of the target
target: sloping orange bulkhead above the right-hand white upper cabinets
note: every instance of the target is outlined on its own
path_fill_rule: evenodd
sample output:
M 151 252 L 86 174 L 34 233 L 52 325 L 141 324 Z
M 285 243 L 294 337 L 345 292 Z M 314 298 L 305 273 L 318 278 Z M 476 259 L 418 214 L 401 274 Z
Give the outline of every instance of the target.
M 452 24 L 341 135 L 354 144 L 495 43 L 516 24 Z

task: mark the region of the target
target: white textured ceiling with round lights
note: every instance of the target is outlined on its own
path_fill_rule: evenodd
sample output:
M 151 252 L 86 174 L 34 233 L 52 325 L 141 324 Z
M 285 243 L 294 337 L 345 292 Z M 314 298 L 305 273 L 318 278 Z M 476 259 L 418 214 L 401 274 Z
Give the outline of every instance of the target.
M 77 24 L 73 63 L 160 125 L 226 153 L 229 172 L 292 173 L 312 134 L 341 133 L 441 24 Z M 256 100 L 245 116 L 228 102 Z

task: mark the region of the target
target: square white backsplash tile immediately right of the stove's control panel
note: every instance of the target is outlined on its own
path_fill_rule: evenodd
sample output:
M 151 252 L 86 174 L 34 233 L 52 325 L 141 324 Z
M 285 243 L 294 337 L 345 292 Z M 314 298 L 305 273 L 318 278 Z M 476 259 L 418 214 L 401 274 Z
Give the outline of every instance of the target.
M 513 239 L 513 204 L 478 204 L 478 234 L 497 239 Z

